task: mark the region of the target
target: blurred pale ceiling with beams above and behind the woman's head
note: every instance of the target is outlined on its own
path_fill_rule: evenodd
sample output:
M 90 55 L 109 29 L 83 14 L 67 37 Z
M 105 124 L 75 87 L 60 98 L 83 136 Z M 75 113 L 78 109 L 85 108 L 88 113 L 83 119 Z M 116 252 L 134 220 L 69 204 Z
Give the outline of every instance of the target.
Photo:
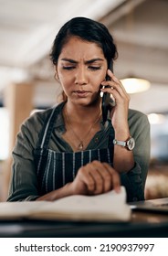
M 88 16 L 115 38 L 116 76 L 152 82 L 149 91 L 131 95 L 131 107 L 168 112 L 167 0 L 0 0 L 0 6 L 0 101 L 6 84 L 31 80 L 35 107 L 53 104 L 60 87 L 48 59 L 52 42 L 69 18 Z

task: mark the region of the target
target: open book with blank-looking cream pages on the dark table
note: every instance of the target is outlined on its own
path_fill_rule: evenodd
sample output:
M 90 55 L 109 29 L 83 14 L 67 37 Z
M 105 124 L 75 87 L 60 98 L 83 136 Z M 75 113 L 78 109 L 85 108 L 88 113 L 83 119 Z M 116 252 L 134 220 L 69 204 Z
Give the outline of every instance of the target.
M 131 208 L 126 191 L 114 190 L 98 196 L 69 196 L 53 202 L 2 202 L 0 219 L 52 219 L 79 221 L 128 221 Z

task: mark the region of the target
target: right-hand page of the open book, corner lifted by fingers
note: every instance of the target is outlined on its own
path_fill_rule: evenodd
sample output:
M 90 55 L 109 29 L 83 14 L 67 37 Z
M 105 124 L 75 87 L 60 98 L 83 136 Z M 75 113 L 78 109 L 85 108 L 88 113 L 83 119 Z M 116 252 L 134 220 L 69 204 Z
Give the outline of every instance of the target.
M 69 196 L 43 205 L 38 211 L 32 211 L 31 218 L 38 219 L 73 219 L 91 221 L 128 221 L 131 208 L 126 204 L 126 191 L 114 190 L 98 196 Z

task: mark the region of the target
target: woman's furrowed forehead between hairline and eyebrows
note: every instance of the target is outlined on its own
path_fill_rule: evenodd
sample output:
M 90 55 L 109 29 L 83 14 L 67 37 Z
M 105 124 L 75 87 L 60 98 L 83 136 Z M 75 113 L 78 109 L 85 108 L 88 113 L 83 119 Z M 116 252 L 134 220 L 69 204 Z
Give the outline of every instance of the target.
M 98 44 L 82 40 L 79 37 L 69 37 L 61 50 L 60 56 L 70 59 L 92 59 L 93 57 L 105 59 L 103 50 Z

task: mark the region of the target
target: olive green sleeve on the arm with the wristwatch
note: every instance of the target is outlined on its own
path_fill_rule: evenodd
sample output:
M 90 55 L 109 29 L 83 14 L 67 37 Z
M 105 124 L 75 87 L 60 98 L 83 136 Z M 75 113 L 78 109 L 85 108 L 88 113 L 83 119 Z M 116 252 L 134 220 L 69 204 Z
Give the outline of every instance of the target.
M 127 190 L 127 201 L 144 200 L 144 189 L 151 155 L 150 123 L 142 112 L 131 111 L 129 115 L 131 136 L 135 139 L 133 149 L 134 167 L 121 174 L 121 183 Z

